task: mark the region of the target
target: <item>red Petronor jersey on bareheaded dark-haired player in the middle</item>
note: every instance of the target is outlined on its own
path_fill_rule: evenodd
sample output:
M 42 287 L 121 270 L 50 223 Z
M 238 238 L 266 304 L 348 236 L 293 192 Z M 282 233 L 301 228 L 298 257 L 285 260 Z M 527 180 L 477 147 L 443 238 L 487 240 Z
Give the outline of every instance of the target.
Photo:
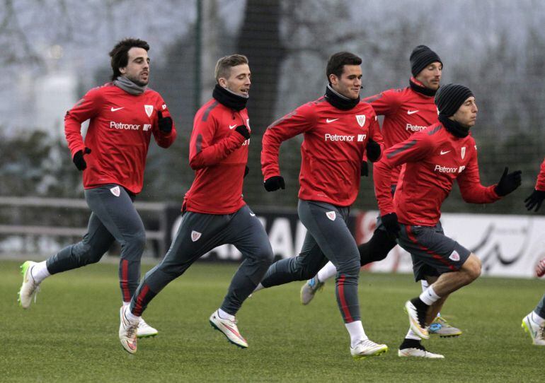
M 367 141 L 373 139 L 384 148 L 373 108 L 360 102 L 350 110 L 340 110 L 321 97 L 273 122 L 263 135 L 265 179 L 280 175 L 280 144 L 297 134 L 304 136 L 299 199 L 350 206 L 360 189 Z

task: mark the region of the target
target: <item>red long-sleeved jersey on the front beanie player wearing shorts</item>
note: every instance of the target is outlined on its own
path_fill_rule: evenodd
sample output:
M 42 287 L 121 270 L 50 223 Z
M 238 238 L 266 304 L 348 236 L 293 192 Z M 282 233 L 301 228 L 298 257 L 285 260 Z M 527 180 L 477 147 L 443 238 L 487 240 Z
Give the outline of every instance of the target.
M 390 172 L 403 164 L 392 199 Z M 471 134 L 459 138 L 442 124 L 433 124 L 386 150 L 374 165 L 374 188 L 381 216 L 395 212 L 401 223 L 434 226 L 454 179 L 466 202 L 486 204 L 500 199 L 495 185 L 481 185 L 477 147 Z

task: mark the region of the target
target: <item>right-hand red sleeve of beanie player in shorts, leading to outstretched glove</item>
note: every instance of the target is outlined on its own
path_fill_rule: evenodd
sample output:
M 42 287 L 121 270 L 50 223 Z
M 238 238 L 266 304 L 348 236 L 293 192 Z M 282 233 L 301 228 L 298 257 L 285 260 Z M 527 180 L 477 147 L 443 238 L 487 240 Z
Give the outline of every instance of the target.
M 490 204 L 500 199 L 500 196 L 495 194 L 495 184 L 489 187 L 483 187 L 481 184 L 476 151 L 464 171 L 458 175 L 457 181 L 461 197 L 469 204 Z

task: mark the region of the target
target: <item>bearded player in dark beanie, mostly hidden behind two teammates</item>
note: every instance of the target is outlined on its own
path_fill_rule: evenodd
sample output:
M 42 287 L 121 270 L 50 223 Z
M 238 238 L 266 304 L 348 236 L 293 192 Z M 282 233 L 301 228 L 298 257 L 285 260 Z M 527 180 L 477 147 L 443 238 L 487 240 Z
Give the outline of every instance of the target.
M 385 148 L 405 141 L 411 134 L 438 121 L 434 96 L 441 81 L 442 61 L 437 53 L 425 45 L 415 47 L 409 59 L 413 76 L 409 79 L 408 87 L 384 90 L 378 95 L 363 99 L 365 102 L 369 102 L 375 113 L 384 116 L 381 133 L 384 136 Z M 362 166 L 365 175 L 367 175 L 367 162 Z M 400 170 L 401 166 L 398 166 L 391 172 L 392 193 L 396 190 Z M 386 232 L 379 216 L 377 228 L 371 239 L 357 247 L 362 266 L 386 258 L 395 246 L 396 239 Z M 328 262 L 316 276 L 306 281 L 301 288 L 302 304 L 308 305 L 316 292 L 336 273 L 335 266 Z M 421 282 L 423 290 L 428 288 L 428 281 L 422 280 Z M 442 337 L 459 336 L 461 330 L 451 326 L 440 314 L 437 314 L 430 326 L 430 334 Z M 413 336 L 413 334 L 409 334 L 409 336 Z

